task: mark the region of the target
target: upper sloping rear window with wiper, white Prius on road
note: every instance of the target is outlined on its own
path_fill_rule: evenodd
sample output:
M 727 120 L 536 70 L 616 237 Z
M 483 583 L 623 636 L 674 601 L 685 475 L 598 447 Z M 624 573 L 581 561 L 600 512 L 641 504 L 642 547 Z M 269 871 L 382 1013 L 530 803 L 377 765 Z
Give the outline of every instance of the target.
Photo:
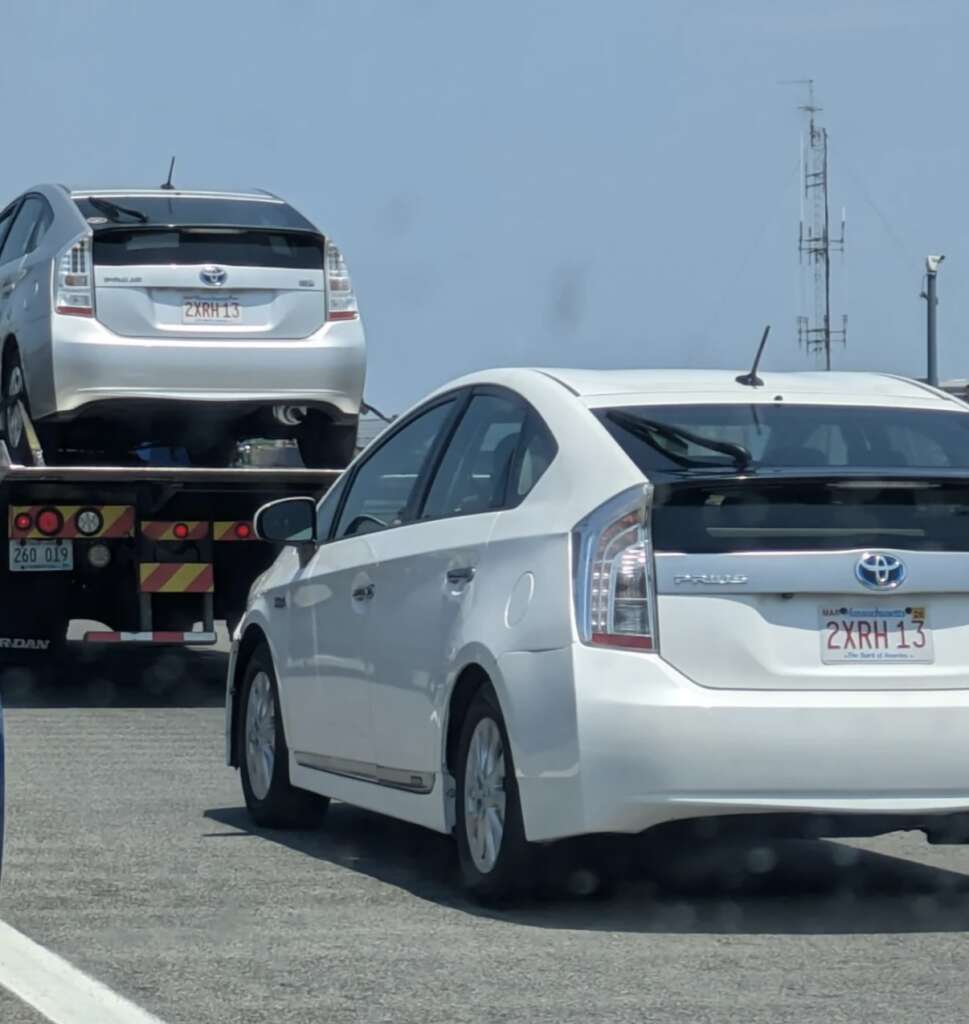
M 778 402 L 635 406 L 595 413 L 647 476 L 650 470 L 689 472 L 742 464 L 754 470 L 969 469 L 969 413 L 959 410 Z M 706 440 L 726 442 L 729 451 L 707 447 Z

